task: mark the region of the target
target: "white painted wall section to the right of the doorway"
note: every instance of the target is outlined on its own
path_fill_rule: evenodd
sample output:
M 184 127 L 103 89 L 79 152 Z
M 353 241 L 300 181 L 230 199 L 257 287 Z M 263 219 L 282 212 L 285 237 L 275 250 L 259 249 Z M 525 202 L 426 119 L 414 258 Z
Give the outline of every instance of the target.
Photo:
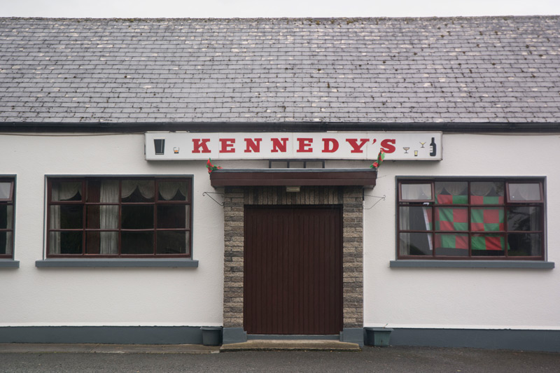
M 386 200 L 364 210 L 365 325 L 560 330 L 559 137 L 445 134 L 441 162 L 382 164 L 367 194 Z M 547 253 L 556 268 L 389 268 L 396 176 L 546 176 Z

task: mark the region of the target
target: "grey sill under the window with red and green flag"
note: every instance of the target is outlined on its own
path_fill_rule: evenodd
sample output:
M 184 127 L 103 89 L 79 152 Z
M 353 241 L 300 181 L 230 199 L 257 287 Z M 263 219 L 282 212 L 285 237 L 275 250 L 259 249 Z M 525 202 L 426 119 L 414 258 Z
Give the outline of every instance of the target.
M 552 269 L 554 262 L 533 260 L 391 260 L 391 268 L 521 268 Z

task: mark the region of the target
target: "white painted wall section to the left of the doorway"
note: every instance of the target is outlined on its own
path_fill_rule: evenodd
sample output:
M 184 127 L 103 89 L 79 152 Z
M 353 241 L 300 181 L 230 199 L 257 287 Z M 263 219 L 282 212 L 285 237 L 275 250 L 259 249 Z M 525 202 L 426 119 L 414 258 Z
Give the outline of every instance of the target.
M 221 325 L 223 209 L 206 162 L 146 162 L 144 135 L 0 135 L 0 174 L 17 175 L 15 260 L 0 269 L 0 326 Z M 194 175 L 198 268 L 41 268 L 45 175 Z M 220 196 L 218 196 L 220 197 Z

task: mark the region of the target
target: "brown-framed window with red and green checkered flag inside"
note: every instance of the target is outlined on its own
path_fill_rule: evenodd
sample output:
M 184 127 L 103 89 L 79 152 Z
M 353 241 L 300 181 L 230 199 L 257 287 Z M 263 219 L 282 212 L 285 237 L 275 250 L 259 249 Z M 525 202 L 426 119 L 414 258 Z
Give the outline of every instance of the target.
M 544 260 L 542 179 L 400 180 L 399 259 Z

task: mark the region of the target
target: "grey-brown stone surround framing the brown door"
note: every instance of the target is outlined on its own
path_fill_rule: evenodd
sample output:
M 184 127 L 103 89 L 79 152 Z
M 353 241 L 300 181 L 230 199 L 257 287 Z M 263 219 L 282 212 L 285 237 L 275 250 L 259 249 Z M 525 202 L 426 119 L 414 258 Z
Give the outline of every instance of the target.
M 346 335 L 363 332 L 363 188 L 360 186 L 225 187 L 224 195 L 224 343 L 244 342 L 244 206 L 290 204 L 342 205 L 342 297 Z M 233 332 L 235 331 L 235 332 Z M 237 336 L 237 337 L 235 337 Z M 232 337 L 232 338 L 230 338 Z M 245 337 L 246 338 L 246 337 Z M 341 337 L 349 340 L 347 337 Z

